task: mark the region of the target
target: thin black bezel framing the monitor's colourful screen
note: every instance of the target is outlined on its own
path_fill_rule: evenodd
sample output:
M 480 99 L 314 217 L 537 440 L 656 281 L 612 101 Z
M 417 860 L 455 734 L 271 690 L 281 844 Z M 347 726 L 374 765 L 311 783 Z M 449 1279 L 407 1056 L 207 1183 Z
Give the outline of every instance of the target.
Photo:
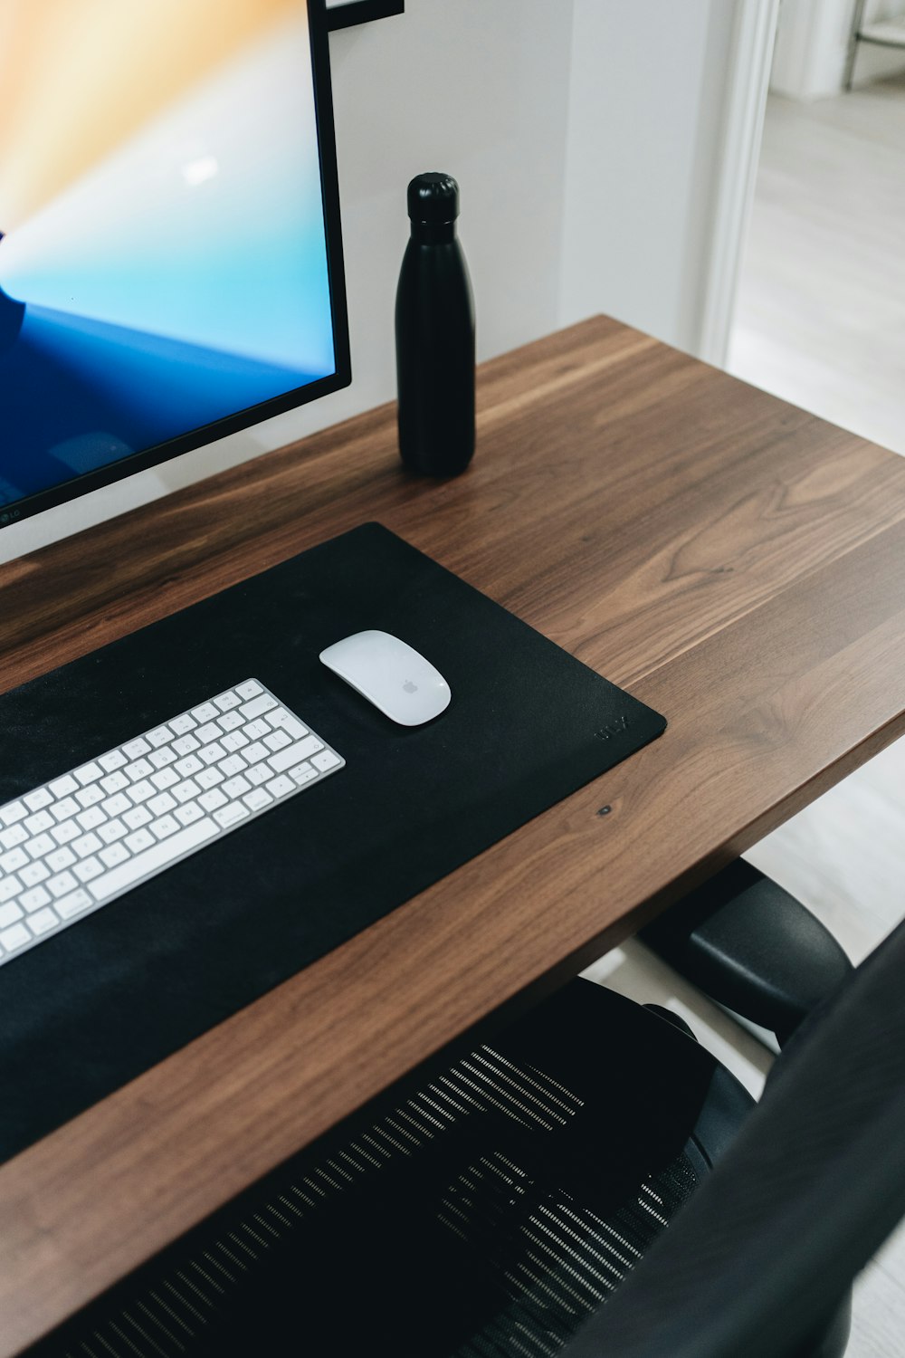
M 349 350 L 349 312 L 346 307 L 346 280 L 343 270 L 342 230 L 339 220 L 339 175 L 336 170 L 336 137 L 332 111 L 332 86 L 330 77 L 330 46 L 327 10 L 324 0 L 307 0 L 308 33 L 311 42 L 311 65 L 315 94 L 315 125 L 317 132 L 317 159 L 320 164 L 320 190 L 324 205 L 324 238 L 327 244 L 327 280 L 330 285 L 330 306 L 334 326 L 335 372 L 317 378 L 304 387 L 294 387 L 280 397 L 271 397 L 235 416 L 225 416 L 206 425 L 199 425 L 190 433 L 155 444 L 142 452 L 111 462 L 94 471 L 73 475 L 57 486 L 35 490 L 12 504 L 0 504 L 0 530 L 23 519 L 50 509 L 54 505 L 76 500 L 79 496 L 99 490 L 102 486 L 123 481 L 126 477 L 157 467 L 186 452 L 194 452 L 229 435 L 240 433 L 252 425 L 285 414 L 308 405 L 320 397 L 347 387 L 351 382 L 351 357 Z M 1 418 L 1 414 L 0 414 Z

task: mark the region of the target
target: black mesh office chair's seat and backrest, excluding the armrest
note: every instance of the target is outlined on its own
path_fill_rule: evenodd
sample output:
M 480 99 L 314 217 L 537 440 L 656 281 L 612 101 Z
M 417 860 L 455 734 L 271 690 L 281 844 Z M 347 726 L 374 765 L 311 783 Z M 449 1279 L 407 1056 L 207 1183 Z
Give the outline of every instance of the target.
M 43 1354 L 839 1358 L 905 1213 L 905 925 L 760 1105 L 586 980 L 299 1157 Z

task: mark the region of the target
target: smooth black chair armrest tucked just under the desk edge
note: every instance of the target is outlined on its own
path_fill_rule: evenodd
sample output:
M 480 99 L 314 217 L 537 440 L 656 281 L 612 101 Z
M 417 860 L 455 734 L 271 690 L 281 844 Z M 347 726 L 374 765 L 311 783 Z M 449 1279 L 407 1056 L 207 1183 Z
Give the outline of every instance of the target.
M 852 971 L 814 915 L 744 858 L 672 906 L 639 938 L 780 1046 Z

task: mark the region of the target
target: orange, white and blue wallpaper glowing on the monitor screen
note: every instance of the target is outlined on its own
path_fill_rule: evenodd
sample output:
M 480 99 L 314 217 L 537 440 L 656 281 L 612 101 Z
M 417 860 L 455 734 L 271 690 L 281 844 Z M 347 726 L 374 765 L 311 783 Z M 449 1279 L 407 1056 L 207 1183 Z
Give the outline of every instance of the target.
M 0 0 L 0 504 L 335 371 L 304 0 Z

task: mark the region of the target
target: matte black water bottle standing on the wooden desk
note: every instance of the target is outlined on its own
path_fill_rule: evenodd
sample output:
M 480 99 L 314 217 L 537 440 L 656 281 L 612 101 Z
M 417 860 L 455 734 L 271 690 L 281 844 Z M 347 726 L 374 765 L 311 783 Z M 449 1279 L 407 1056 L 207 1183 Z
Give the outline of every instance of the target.
M 408 216 L 396 291 L 399 452 L 410 471 L 455 477 L 475 451 L 475 304 L 452 175 L 417 175 Z

